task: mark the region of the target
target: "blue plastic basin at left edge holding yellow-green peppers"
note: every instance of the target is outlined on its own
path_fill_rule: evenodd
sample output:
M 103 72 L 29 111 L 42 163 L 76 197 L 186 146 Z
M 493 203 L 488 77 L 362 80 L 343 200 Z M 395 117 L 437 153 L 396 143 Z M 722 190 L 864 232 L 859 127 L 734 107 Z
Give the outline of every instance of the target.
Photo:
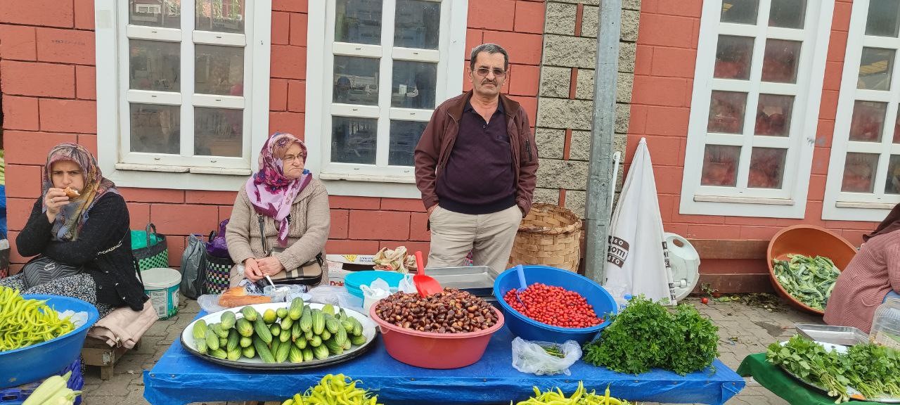
M 0 352 L 0 388 L 9 388 L 31 383 L 71 365 L 81 354 L 85 345 L 87 329 L 100 318 L 100 313 L 88 302 L 59 295 L 25 294 L 30 300 L 47 300 L 47 305 L 55 311 L 72 310 L 87 312 L 87 322 L 79 328 L 52 340 L 37 345 L 20 347 Z

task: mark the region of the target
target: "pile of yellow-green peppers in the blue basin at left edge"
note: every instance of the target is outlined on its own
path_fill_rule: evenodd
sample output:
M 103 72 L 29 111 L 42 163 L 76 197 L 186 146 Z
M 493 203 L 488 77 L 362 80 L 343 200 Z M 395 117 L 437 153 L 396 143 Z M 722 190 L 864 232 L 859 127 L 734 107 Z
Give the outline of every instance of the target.
M 26 300 L 19 290 L 0 286 L 0 352 L 36 345 L 75 329 L 39 300 Z

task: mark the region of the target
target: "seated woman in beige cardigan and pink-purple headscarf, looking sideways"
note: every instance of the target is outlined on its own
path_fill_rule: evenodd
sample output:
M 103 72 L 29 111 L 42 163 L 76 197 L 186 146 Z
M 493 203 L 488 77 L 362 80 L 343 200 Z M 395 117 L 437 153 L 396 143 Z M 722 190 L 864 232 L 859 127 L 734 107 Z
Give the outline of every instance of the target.
M 229 255 L 238 264 L 231 269 L 231 286 L 245 278 L 257 283 L 266 275 L 325 257 L 331 226 L 329 193 L 303 168 L 306 156 L 303 141 L 289 133 L 275 132 L 263 145 L 259 171 L 238 192 L 225 232 Z M 266 247 L 284 247 L 283 252 L 268 255 L 260 219 Z M 328 279 L 323 266 L 321 282 Z

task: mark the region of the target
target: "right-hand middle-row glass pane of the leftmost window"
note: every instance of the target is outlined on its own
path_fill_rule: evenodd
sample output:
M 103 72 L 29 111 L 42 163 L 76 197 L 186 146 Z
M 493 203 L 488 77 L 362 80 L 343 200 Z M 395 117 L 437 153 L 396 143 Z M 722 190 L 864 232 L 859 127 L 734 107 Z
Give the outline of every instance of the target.
M 244 95 L 244 49 L 196 45 L 194 93 Z

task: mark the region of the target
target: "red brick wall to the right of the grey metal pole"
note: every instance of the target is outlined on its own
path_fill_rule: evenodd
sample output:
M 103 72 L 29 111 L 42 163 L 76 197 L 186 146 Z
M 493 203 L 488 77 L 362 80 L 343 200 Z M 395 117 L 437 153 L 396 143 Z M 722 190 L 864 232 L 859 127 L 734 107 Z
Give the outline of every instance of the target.
M 834 7 L 816 133 L 819 141 L 809 180 L 806 218 L 791 220 L 679 213 L 703 1 L 643 0 L 626 161 L 631 159 L 637 142 L 645 137 L 653 157 L 666 231 L 686 238 L 769 240 L 779 229 L 803 223 L 831 229 L 851 243 L 860 245 L 861 236 L 875 228 L 872 222 L 822 220 L 825 176 L 831 154 L 851 3 L 849 0 L 837 0 Z M 662 178 L 667 181 L 659 181 Z M 750 275 L 743 277 L 743 282 L 740 280 L 742 277 L 732 277 L 731 283 L 743 283 L 747 285 L 745 288 L 750 289 L 756 289 L 753 286 L 768 288 L 765 287 L 768 275 L 753 276 L 768 272 L 764 260 L 706 260 L 701 270 L 705 275 Z M 707 277 L 707 280 L 716 278 Z

